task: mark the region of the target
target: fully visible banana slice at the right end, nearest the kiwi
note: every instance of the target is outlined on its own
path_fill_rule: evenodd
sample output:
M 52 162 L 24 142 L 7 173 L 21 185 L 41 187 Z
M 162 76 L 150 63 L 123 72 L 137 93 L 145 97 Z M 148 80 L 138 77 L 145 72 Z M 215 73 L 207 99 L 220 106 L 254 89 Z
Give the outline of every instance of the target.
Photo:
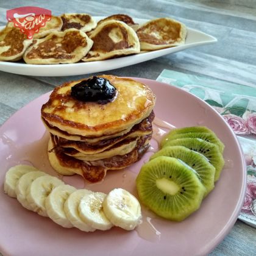
M 118 227 L 133 230 L 141 219 L 141 207 L 137 198 L 123 188 L 110 191 L 103 202 L 107 218 Z

